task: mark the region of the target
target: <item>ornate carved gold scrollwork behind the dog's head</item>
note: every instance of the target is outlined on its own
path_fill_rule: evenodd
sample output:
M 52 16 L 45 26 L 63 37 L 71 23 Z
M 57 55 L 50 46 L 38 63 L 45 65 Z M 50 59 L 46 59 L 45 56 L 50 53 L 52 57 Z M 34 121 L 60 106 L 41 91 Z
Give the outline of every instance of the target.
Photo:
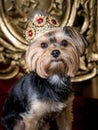
M 55 15 L 61 26 L 77 27 L 86 37 L 89 47 L 72 81 L 94 77 L 98 73 L 97 0 L 0 0 L 0 79 L 27 73 L 23 31 L 36 9 Z

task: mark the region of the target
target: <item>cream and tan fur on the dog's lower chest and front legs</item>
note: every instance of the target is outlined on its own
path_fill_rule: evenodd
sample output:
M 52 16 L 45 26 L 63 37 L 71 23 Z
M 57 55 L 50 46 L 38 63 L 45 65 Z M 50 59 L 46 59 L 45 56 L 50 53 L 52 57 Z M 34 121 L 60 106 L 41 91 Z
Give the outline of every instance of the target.
M 31 109 L 28 113 L 21 114 L 25 123 L 25 130 L 38 130 L 38 122 L 46 113 L 58 112 L 56 118 L 59 130 L 71 130 L 72 123 L 72 101 L 71 95 L 65 103 L 60 102 L 43 102 L 36 100 L 31 104 Z M 19 126 L 20 127 L 20 126 Z M 17 126 L 17 128 L 19 129 Z M 43 130 L 49 130 L 49 124 L 45 124 Z M 16 130 L 16 128 L 14 128 Z

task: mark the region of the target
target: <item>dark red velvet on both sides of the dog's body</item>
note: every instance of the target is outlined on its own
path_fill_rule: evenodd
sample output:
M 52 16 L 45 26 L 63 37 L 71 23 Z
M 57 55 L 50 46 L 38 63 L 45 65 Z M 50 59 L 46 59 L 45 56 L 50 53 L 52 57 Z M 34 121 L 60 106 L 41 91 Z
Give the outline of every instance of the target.
M 6 96 L 15 83 L 16 79 L 0 80 L 0 117 Z M 73 130 L 98 130 L 98 100 L 84 98 L 82 91 L 75 91 L 75 99 L 73 102 Z M 0 118 L 0 130 L 1 118 Z

